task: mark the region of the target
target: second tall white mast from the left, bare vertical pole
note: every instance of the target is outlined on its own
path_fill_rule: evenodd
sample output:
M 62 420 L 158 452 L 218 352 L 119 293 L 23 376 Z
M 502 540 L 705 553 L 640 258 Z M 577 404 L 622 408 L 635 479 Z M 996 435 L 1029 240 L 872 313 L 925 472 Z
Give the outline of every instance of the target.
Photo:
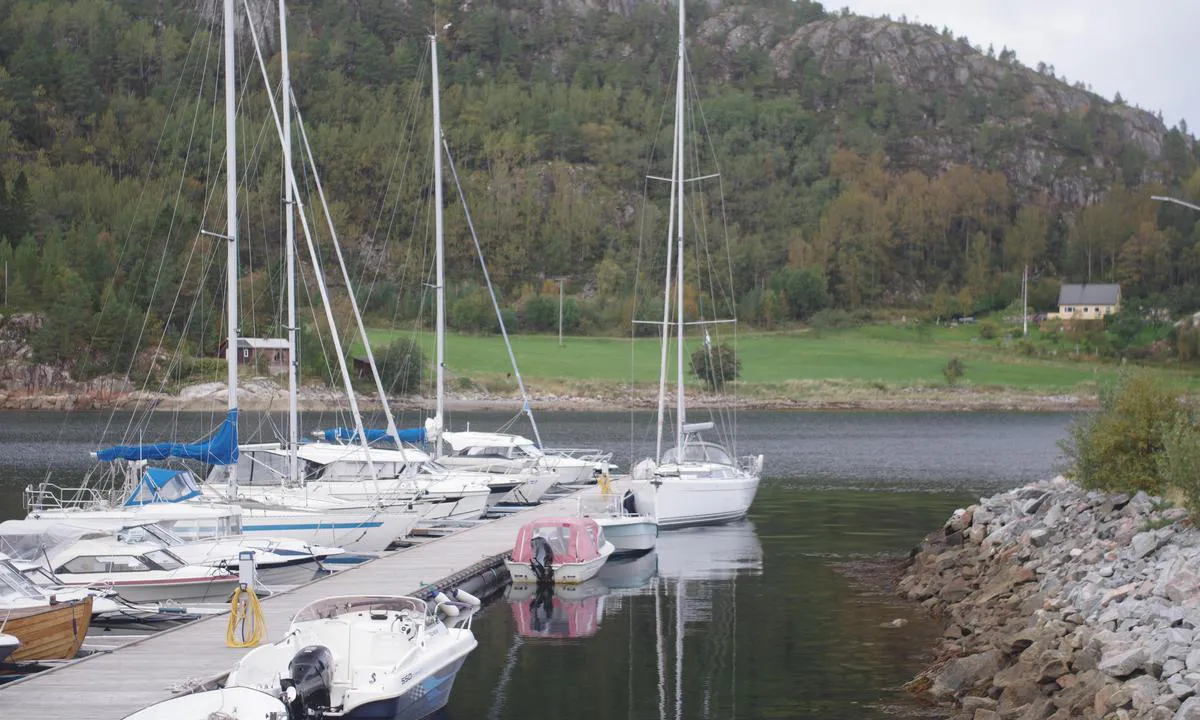
M 292 167 L 292 70 L 288 65 L 288 16 L 286 0 L 280 0 L 280 64 L 283 74 L 283 91 L 281 110 L 283 113 L 283 166 Z M 298 368 L 300 359 L 298 346 L 300 331 L 296 324 L 296 248 L 295 248 L 295 216 L 293 215 L 292 182 L 287 180 L 287 172 L 283 173 L 283 209 L 284 223 L 287 227 L 287 239 L 284 256 L 287 258 L 288 275 L 288 481 L 295 482 L 300 479 L 300 412 L 296 408 L 296 391 L 299 390 Z

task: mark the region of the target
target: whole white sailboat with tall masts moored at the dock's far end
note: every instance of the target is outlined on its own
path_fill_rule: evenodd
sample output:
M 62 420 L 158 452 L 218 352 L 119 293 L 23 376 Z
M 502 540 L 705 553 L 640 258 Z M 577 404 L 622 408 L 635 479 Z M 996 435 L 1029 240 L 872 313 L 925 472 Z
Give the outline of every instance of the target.
M 662 294 L 662 344 L 659 372 L 656 460 L 643 460 L 634 468 L 637 508 L 653 508 L 659 527 L 722 523 L 743 517 L 754 503 L 762 473 L 762 455 L 734 460 L 728 449 L 706 442 L 701 433 L 713 422 L 688 422 L 684 398 L 684 77 L 686 72 L 684 2 L 679 0 L 679 50 L 676 68 L 674 146 L 671 170 L 671 217 L 667 241 L 667 271 Z M 672 268 L 672 252 L 674 266 Z M 672 274 L 674 277 L 672 278 Z M 674 283 L 672 286 L 672 282 Z M 670 343 L 671 295 L 674 290 L 676 408 L 674 446 L 662 450 L 666 415 L 667 347 Z M 706 331 L 706 347 L 708 335 Z

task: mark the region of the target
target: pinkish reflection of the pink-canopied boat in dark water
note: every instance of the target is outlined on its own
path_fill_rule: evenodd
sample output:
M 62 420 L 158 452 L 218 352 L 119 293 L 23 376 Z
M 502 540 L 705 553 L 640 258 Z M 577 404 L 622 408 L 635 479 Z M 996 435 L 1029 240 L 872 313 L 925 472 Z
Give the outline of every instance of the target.
M 575 586 L 511 586 L 509 606 L 517 635 L 548 640 L 592 637 L 600 629 L 608 587 L 599 578 Z

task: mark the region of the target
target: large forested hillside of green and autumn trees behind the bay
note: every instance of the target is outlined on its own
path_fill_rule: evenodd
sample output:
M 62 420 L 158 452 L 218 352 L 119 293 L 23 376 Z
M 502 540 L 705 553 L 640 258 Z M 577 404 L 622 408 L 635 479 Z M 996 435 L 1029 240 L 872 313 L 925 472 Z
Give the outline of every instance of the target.
M 251 7 L 277 77 L 275 4 Z M 103 372 L 181 337 L 192 355 L 215 352 L 223 258 L 198 230 L 223 227 L 218 11 L 0 0 L 0 262 L 8 310 L 49 314 L 40 359 Z M 668 145 L 672 7 L 310 0 L 289 12 L 298 104 L 377 317 L 407 322 L 427 292 L 427 211 L 414 210 L 427 179 L 397 168 L 428 164 L 437 23 L 446 136 L 504 304 L 548 329 L 557 313 L 539 294 L 566 277 L 569 325 L 628 326 L 640 240 L 665 233 L 642 192 L 660 169 L 652 149 Z M 1058 282 L 1085 280 L 1148 306 L 1200 305 L 1196 217 L 1150 199 L 1200 198 L 1186 127 L 947 30 L 809 0 L 690 12 L 691 82 L 726 199 L 710 220 L 731 232 L 743 322 L 1001 308 L 1025 266 L 1043 307 Z M 281 173 L 246 30 L 241 326 L 264 335 L 280 324 Z M 487 329 L 464 217 L 448 212 L 451 320 Z

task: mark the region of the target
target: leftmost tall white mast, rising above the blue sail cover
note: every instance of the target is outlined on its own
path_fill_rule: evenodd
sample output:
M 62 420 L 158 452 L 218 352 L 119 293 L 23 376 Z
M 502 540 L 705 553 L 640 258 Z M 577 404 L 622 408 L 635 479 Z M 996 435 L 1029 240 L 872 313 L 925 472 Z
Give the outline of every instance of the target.
M 236 71 L 234 70 L 234 0 L 224 0 L 226 90 L 226 365 L 228 365 L 229 414 L 238 412 L 238 124 L 234 118 Z M 229 466 L 229 487 L 238 491 L 238 464 Z

